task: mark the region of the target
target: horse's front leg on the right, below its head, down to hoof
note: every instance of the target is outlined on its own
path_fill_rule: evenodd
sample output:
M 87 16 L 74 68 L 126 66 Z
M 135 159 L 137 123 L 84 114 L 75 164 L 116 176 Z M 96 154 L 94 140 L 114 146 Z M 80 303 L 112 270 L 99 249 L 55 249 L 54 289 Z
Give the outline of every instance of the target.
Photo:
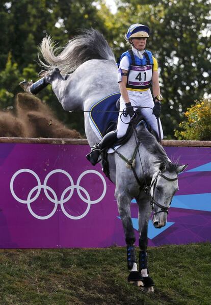
M 144 292 L 154 292 L 154 282 L 148 275 L 149 271 L 147 261 L 147 231 L 151 207 L 148 195 L 144 191 L 142 191 L 139 198 L 137 198 L 137 203 L 139 206 L 139 273 L 142 275 L 144 283 L 144 287 L 141 287 L 141 289 Z

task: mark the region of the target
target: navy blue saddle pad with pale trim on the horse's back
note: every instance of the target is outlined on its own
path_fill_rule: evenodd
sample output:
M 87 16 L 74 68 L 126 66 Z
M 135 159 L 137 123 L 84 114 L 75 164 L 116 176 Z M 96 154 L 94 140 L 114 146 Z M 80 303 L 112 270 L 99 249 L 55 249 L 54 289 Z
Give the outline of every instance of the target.
M 116 92 L 100 99 L 90 108 L 90 120 L 95 131 L 103 137 L 105 129 L 111 122 L 116 122 L 119 115 L 119 109 L 116 107 L 117 99 L 120 93 Z M 107 112 L 108 111 L 108 112 Z

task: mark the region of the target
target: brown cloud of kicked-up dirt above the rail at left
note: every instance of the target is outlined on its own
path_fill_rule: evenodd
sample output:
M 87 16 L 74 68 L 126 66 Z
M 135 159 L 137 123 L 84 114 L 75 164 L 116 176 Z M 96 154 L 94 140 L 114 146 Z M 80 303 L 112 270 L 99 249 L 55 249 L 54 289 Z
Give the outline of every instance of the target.
M 16 115 L 0 111 L 0 137 L 82 138 L 68 129 L 42 101 L 32 94 L 18 93 Z

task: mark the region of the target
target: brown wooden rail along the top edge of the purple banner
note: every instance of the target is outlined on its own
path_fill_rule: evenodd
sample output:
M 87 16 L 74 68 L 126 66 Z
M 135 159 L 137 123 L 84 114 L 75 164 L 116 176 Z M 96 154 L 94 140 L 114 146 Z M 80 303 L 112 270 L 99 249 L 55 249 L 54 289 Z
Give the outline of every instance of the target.
M 0 137 L 0 143 L 88 145 L 87 139 L 12 138 L 12 137 Z M 163 146 L 211 147 L 211 141 L 163 140 L 162 144 Z

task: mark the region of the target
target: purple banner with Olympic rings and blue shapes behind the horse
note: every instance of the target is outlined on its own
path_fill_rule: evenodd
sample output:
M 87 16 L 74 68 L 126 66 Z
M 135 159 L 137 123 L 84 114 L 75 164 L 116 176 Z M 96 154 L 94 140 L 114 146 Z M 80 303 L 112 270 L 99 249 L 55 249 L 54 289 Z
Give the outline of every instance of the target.
M 165 147 L 189 163 L 167 225 L 149 246 L 211 241 L 211 147 Z M 0 248 L 125 245 L 115 186 L 86 160 L 88 145 L 0 143 Z M 131 202 L 138 245 L 138 208 Z

